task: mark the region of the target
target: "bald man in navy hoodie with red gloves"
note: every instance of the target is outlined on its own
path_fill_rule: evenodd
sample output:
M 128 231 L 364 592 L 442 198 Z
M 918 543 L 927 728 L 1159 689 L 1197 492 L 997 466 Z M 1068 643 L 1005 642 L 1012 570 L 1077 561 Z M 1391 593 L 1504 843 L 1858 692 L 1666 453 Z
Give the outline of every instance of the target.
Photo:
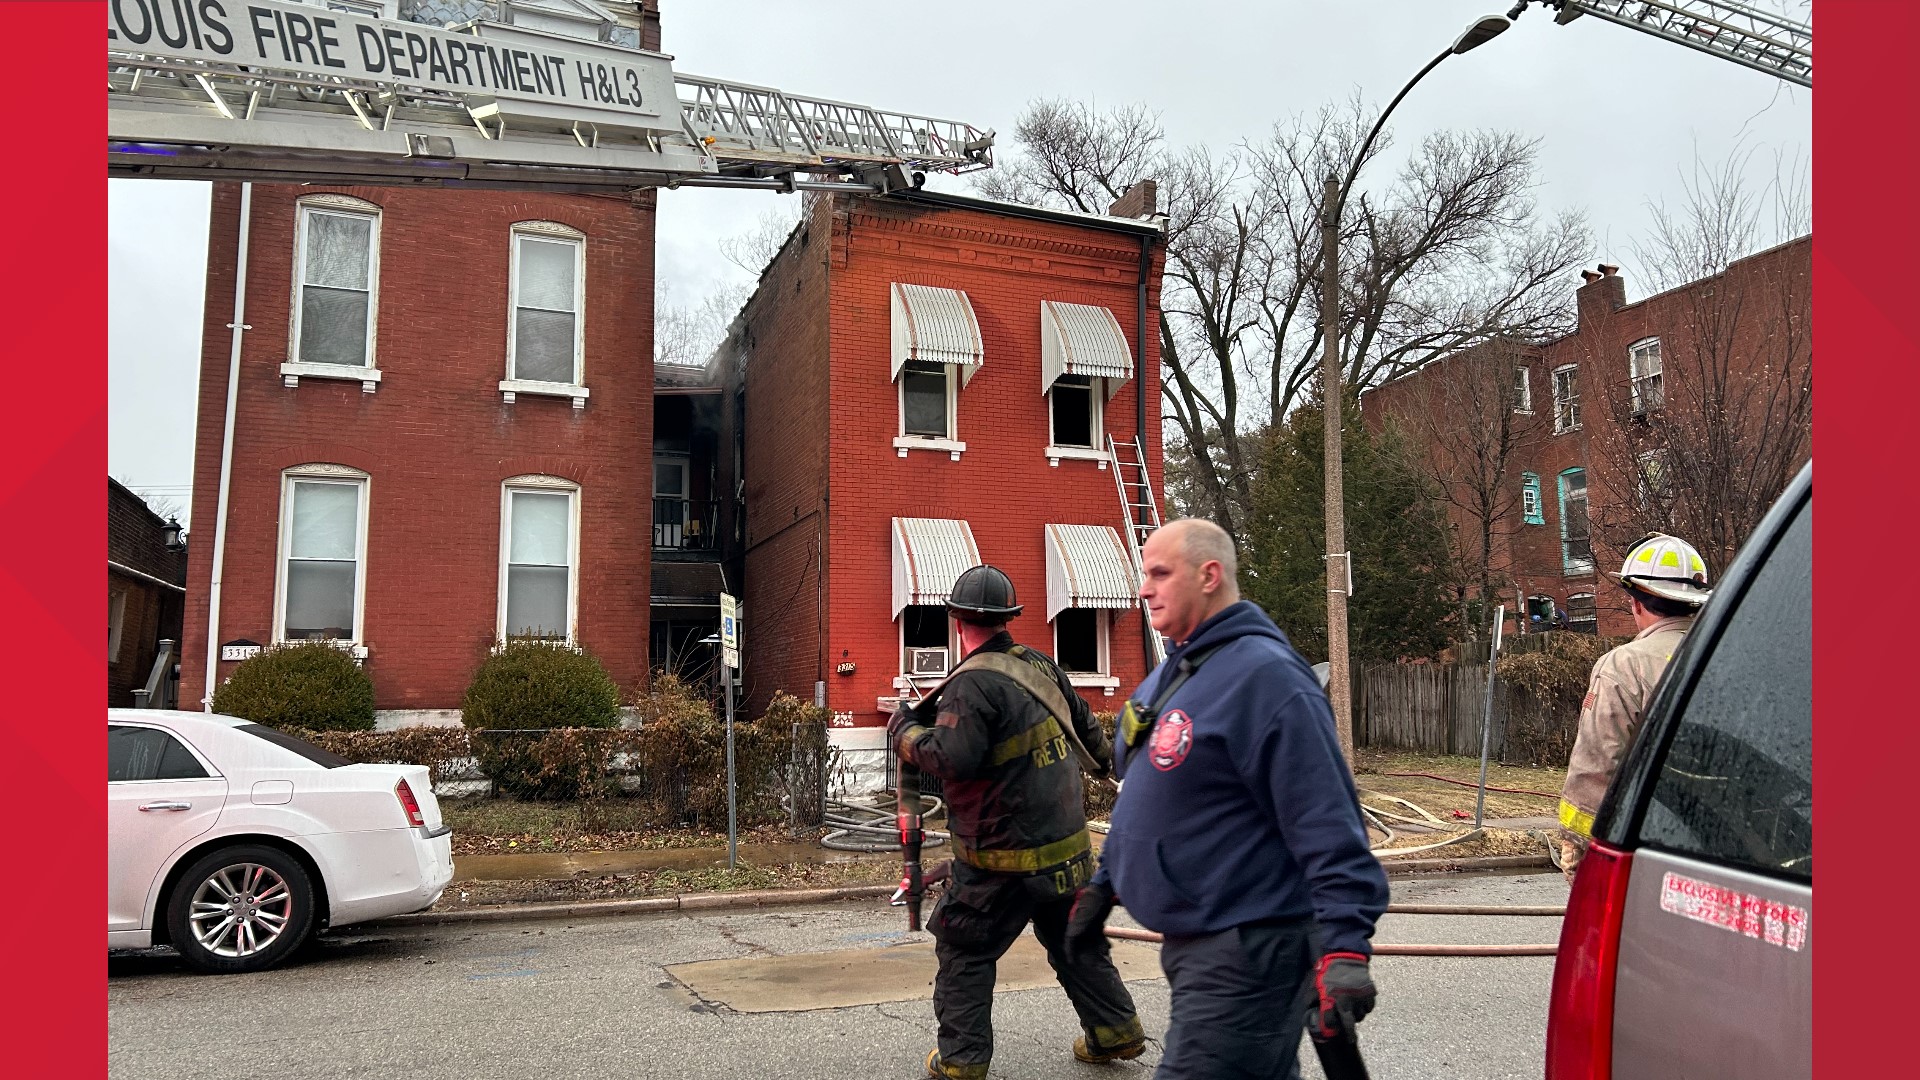
M 1171 521 L 1140 563 L 1140 598 L 1175 648 L 1121 713 L 1125 784 L 1068 947 L 1098 947 L 1116 903 L 1165 936 L 1156 1080 L 1296 1078 L 1306 1024 L 1342 1038 L 1373 1009 L 1386 872 L 1327 694 L 1240 600 L 1227 532 Z

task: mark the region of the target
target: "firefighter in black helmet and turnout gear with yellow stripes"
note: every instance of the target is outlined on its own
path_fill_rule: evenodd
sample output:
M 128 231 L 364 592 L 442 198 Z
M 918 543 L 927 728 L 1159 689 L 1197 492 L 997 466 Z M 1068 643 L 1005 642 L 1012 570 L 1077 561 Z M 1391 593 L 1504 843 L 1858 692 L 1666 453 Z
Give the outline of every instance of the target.
M 966 571 L 947 611 L 958 621 L 966 659 L 937 698 L 902 705 L 887 724 L 893 749 L 945 782 L 954 849 L 952 876 L 927 919 L 939 957 L 939 1049 L 927 1055 L 927 1074 L 987 1076 L 995 965 L 1027 922 L 1079 1013 L 1085 1034 L 1073 1055 L 1089 1063 L 1139 1057 L 1146 1038 L 1106 942 L 1077 949 L 1073 959 L 1064 951 L 1073 896 L 1092 876 L 1081 755 L 1104 776 L 1112 767 L 1106 732 L 1060 667 L 1006 632 L 1021 607 L 1004 573 L 989 565 Z M 1043 694 L 1002 671 L 979 669 L 1004 661 L 975 661 L 977 653 L 1029 665 Z M 1068 715 L 1054 715 L 1043 696 Z

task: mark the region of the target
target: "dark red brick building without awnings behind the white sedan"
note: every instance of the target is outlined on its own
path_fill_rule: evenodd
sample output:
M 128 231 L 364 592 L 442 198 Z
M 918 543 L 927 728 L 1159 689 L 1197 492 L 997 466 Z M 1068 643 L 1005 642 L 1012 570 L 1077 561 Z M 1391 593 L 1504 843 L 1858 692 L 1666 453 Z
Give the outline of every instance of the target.
M 637 4 L 509 8 L 534 29 L 659 48 L 657 12 Z M 507 634 L 586 644 L 620 686 L 641 684 L 653 231 L 651 192 L 215 184 L 186 707 L 232 669 L 223 644 L 298 640 L 365 657 L 382 726 L 457 719 Z

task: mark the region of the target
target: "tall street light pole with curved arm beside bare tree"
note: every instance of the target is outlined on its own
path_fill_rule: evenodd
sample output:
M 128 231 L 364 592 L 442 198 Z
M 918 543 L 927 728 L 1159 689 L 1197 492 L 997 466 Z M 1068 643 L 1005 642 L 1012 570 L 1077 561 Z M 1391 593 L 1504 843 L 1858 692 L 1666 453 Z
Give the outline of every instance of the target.
M 1354 763 L 1354 680 L 1348 669 L 1346 648 L 1346 601 L 1354 592 L 1354 553 L 1346 546 L 1346 479 L 1340 459 L 1340 425 L 1344 423 L 1346 394 L 1340 386 L 1340 211 L 1346 209 L 1346 196 L 1359 175 L 1359 163 L 1367 160 L 1367 150 L 1386 127 L 1386 117 L 1407 90 L 1415 86 L 1442 60 L 1478 48 L 1500 37 L 1513 23 L 1500 15 L 1478 19 L 1440 56 L 1427 61 L 1407 85 L 1394 94 L 1394 100 L 1380 110 L 1373 121 L 1373 131 L 1359 144 L 1354 161 L 1348 163 L 1346 179 L 1327 177 L 1321 192 L 1321 407 L 1325 409 L 1327 438 L 1323 446 L 1323 473 L 1327 477 L 1327 700 L 1332 703 L 1332 723 L 1340 734 L 1340 753 L 1348 765 Z

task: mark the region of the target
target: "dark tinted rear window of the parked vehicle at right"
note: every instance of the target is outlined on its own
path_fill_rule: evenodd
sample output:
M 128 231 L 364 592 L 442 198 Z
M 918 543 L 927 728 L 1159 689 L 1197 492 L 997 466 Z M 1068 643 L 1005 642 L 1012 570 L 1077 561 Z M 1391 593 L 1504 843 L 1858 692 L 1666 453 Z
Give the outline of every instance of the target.
M 1812 502 L 1726 617 L 1653 780 L 1640 840 L 1812 880 Z

